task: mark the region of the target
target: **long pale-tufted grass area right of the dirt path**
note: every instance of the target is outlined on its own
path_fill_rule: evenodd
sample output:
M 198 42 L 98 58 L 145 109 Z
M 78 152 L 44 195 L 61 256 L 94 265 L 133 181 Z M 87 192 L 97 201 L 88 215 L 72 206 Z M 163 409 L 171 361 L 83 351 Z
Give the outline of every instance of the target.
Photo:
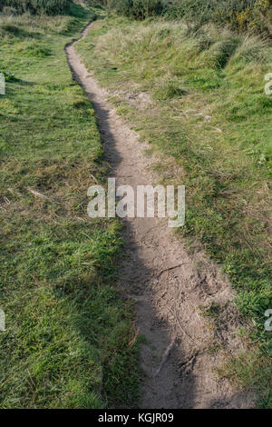
M 182 22 L 112 15 L 77 50 L 114 91 L 117 111 L 160 153 L 161 183 L 186 185 L 179 233 L 222 265 L 248 324 L 248 353 L 227 363 L 225 375 L 271 407 L 272 341 L 264 330 L 272 307 L 272 97 L 264 92 L 271 45 L 213 25 L 188 35 Z M 140 92 L 153 104 L 130 104 L 128 94 Z

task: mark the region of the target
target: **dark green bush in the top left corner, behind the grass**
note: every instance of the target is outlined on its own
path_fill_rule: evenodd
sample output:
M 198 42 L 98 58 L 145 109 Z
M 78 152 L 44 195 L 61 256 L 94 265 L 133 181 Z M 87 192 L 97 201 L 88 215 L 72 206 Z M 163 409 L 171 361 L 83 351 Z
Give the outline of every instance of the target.
M 69 3 L 70 0 L 0 0 L 0 11 L 6 6 L 14 8 L 19 14 L 57 15 L 63 13 Z

